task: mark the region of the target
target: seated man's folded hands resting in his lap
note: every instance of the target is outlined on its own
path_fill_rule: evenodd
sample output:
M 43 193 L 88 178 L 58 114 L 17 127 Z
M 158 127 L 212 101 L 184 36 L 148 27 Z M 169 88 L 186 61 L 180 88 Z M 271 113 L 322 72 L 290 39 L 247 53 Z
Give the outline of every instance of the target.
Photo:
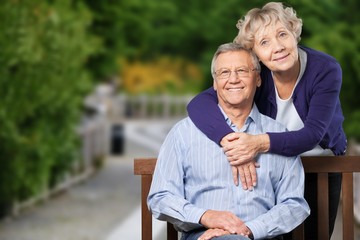
M 208 229 L 222 229 L 230 234 L 245 234 L 248 228 L 235 214 L 228 211 L 207 210 L 200 224 Z M 218 231 L 216 231 L 218 233 Z

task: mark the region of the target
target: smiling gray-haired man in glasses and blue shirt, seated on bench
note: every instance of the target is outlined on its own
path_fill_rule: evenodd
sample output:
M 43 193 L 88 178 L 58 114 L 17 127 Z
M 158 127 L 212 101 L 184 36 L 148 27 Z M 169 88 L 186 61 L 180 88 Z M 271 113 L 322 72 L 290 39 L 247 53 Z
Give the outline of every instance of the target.
M 261 84 L 256 56 L 235 43 L 221 45 L 211 72 L 219 108 L 238 132 L 284 131 L 259 113 L 253 98 Z M 233 183 L 232 167 L 222 151 L 189 118 L 165 139 L 148 196 L 152 214 L 174 224 L 183 240 L 281 239 L 309 215 L 303 197 L 304 170 L 299 157 L 259 154 L 257 185 Z

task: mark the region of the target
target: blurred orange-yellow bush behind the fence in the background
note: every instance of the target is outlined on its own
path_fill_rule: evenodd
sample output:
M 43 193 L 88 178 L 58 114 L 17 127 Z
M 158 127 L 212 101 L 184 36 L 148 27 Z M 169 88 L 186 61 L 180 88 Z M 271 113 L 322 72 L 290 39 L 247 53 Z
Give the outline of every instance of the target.
M 186 94 L 202 87 L 198 65 L 175 57 L 157 57 L 154 61 L 122 64 L 123 88 L 129 94 Z

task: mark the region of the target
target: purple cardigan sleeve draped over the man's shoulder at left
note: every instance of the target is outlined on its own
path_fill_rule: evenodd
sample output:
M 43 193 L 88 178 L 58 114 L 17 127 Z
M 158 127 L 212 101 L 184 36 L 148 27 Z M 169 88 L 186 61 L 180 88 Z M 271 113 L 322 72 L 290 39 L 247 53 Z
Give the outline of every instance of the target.
M 219 145 L 224 136 L 233 132 L 224 121 L 216 91 L 212 87 L 195 96 L 188 104 L 187 111 L 195 126 Z

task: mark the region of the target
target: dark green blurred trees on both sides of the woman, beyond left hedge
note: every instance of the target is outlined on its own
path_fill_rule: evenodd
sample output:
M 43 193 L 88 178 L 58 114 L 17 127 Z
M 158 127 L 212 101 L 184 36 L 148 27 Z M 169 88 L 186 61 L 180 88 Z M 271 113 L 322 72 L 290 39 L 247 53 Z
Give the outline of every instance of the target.
M 249 9 L 268 1 L 255 0 L 85 0 L 94 11 L 93 33 L 103 37 L 102 53 L 92 58 L 95 76 L 107 77 L 122 70 L 120 59 L 152 60 L 174 55 L 199 64 L 211 86 L 213 52 L 237 34 L 235 24 Z M 334 56 L 343 68 L 341 101 L 344 125 L 356 124 L 352 112 L 360 109 L 360 9 L 356 0 L 289 0 L 285 2 L 303 19 L 301 44 Z M 110 63 L 110 64 L 109 64 Z M 345 129 L 349 129 L 345 127 Z M 347 131 L 348 137 L 355 133 Z M 360 139 L 358 139 L 360 140 Z

